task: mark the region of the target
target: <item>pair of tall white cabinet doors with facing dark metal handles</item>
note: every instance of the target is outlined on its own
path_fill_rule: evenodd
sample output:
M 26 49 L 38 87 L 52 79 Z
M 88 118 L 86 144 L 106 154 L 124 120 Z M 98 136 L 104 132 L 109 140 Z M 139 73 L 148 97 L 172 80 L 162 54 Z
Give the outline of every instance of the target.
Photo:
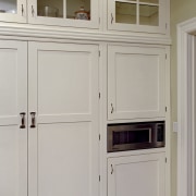
M 0 44 L 0 195 L 98 196 L 98 46 Z

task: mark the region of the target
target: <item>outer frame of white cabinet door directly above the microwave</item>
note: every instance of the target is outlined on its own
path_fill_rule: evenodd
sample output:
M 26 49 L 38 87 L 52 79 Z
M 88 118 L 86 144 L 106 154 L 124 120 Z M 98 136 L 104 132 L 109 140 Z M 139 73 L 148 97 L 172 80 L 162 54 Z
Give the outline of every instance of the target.
M 118 109 L 117 56 L 146 56 L 158 58 L 158 89 L 156 110 Z M 132 64 L 132 62 L 130 63 Z M 131 90 L 131 89 L 128 89 Z M 120 96 L 120 95 L 119 95 Z M 131 100 L 130 100 L 131 101 Z M 108 120 L 156 119 L 166 117 L 166 49 L 147 46 L 108 46 Z

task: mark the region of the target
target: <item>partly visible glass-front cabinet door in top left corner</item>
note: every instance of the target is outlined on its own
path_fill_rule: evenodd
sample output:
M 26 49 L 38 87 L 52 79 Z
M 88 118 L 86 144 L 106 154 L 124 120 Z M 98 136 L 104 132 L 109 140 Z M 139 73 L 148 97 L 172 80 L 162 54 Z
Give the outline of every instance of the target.
M 26 23 L 26 0 L 1 0 L 0 21 Z

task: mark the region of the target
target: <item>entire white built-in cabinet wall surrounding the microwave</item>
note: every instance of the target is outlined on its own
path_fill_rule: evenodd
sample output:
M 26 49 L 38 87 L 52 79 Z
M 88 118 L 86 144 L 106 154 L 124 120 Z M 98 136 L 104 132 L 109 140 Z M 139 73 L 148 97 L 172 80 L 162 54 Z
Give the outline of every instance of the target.
M 0 0 L 0 196 L 170 196 L 169 1 Z M 164 147 L 107 151 L 151 121 Z

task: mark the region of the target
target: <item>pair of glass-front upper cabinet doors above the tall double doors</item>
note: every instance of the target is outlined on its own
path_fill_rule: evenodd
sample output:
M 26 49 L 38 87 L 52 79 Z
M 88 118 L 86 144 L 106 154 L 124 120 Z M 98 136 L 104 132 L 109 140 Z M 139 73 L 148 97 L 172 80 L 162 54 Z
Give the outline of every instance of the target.
M 97 0 L 1 0 L 0 21 L 98 28 Z

